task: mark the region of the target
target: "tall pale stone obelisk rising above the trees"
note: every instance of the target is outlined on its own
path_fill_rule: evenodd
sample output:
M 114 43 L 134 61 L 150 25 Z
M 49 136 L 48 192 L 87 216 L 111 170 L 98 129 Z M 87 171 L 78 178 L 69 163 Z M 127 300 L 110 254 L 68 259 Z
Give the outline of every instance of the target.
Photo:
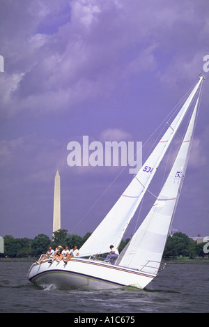
M 60 176 L 57 170 L 54 178 L 53 233 L 58 229 L 61 229 L 61 205 L 60 205 Z

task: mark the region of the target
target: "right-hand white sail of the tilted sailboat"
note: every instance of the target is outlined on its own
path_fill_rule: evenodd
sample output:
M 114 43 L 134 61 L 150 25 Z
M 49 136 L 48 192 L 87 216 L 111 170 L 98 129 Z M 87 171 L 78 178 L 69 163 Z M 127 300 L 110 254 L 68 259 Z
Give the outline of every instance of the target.
M 157 274 L 183 185 L 198 102 L 199 98 L 196 100 L 187 132 L 167 181 L 164 183 L 150 212 L 132 237 L 119 266 L 136 268 L 140 271 Z

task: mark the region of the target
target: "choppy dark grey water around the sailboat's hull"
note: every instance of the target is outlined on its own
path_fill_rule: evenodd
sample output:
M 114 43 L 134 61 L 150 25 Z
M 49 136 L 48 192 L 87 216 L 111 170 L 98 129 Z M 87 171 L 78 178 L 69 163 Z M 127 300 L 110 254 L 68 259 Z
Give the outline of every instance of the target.
M 60 291 L 27 280 L 29 262 L 0 262 L 0 313 L 209 312 L 209 265 L 169 264 L 146 289 Z

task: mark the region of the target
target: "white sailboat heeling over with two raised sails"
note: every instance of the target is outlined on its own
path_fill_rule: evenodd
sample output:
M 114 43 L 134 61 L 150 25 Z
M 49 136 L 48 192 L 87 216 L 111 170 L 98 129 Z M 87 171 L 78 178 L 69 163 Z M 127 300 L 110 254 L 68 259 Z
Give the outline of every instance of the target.
M 187 100 L 168 125 L 144 165 L 79 249 L 79 257 L 70 259 L 67 264 L 64 261 L 50 263 L 49 259 L 43 260 L 42 264 L 32 264 L 28 273 L 31 282 L 40 286 L 54 285 L 58 289 L 97 290 L 127 286 L 144 289 L 157 277 L 185 177 L 204 79 L 203 76 L 199 77 Z M 119 255 L 116 264 L 101 261 L 98 259 L 100 254 L 109 252 L 110 245 L 114 245 L 115 248 L 120 245 L 141 199 L 148 191 L 148 186 L 173 137 L 178 134 L 178 128 L 190 107 L 193 111 L 185 136 L 155 203 L 123 253 Z

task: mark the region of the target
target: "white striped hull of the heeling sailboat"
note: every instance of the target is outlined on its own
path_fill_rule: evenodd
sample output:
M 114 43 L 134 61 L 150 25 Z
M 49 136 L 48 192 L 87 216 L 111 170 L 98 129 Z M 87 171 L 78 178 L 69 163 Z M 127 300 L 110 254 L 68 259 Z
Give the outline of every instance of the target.
M 54 285 L 57 289 L 112 289 L 118 287 L 137 287 L 144 289 L 156 275 L 142 273 L 135 269 L 105 264 L 101 261 L 72 258 L 63 261 L 49 260 L 33 264 L 28 278 L 39 286 Z

